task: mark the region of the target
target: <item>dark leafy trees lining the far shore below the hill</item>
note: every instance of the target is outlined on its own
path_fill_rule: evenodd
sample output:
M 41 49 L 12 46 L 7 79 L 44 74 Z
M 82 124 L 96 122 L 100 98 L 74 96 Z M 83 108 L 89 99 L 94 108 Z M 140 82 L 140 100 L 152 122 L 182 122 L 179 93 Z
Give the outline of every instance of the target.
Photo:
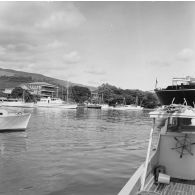
M 155 108 L 160 105 L 156 94 L 153 92 L 141 91 L 138 89 L 121 89 L 109 84 L 102 84 L 97 88 L 95 93 L 92 93 L 87 87 L 82 86 L 71 86 L 68 89 L 59 86 L 59 89 L 60 88 L 63 90 L 59 91 L 55 96 L 66 100 L 68 95 L 68 99 L 76 103 L 84 103 L 88 101 L 94 103 L 106 103 L 110 106 L 116 104 L 137 104 L 145 108 Z M 37 97 L 20 87 L 16 87 L 12 91 L 10 97 L 24 98 L 26 102 L 36 101 L 37 99 Z

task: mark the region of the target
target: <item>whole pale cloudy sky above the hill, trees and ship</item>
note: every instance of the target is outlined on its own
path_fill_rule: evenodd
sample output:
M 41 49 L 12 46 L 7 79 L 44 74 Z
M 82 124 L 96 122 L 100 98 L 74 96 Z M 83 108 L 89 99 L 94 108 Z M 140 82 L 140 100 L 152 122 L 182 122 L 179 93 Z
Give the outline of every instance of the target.
M 0 2 L 0 68 L 153 90 L 195 77 L 195 2 Z

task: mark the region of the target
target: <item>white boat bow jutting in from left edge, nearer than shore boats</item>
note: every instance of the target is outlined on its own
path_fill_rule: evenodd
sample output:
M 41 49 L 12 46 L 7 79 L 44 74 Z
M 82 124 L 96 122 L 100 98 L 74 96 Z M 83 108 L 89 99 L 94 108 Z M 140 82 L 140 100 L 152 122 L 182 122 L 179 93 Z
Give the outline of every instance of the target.
M 0 132 L 25 130 L 30 116 L 30 113 L 8 113 L 7 110 L 0 109 Z

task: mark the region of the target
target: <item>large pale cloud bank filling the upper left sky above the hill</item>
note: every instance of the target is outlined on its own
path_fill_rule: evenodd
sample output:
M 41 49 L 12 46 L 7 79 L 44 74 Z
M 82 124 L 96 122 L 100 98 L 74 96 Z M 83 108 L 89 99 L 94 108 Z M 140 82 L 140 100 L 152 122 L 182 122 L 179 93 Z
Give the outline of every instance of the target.
M 0 2 L 0 66 L 67 71 L 81 55 L 66 35 L 85 20 L 73 2 Z

